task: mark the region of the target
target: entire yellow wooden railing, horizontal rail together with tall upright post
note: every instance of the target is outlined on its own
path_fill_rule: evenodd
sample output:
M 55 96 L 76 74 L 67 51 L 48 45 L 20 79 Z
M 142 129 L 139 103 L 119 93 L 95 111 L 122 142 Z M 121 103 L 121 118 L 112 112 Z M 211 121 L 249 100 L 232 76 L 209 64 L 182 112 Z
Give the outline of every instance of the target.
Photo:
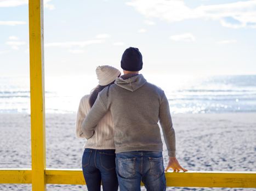
M 29 0 L 32 169 L 0 169 L 0 183 L 85 184 L 81 170 L 46 169 L 44 118 L 43 0 Z M 256 172 L 166 172 L 167 186 L 255 188 Z

